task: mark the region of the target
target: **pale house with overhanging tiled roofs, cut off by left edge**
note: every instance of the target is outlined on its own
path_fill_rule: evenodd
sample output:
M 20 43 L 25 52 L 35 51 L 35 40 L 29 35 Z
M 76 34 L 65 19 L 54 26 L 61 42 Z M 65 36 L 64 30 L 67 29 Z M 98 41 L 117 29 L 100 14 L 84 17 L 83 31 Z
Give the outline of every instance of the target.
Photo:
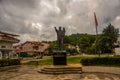
M 18 43 L 18 35 L 0 32 L 0 59 L 10 58 L 13 51 L 13 44 Z

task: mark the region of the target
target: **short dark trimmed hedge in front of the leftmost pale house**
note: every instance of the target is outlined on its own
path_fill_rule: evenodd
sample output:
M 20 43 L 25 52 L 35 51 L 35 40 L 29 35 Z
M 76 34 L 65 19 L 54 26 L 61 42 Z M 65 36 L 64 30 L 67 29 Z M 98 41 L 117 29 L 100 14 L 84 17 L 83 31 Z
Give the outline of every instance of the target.
M 19 65 L 19 64 L 20 64 L 20 60 L 19 59 L 0 60 L 0 67 L 11 66 L 11 65 Z

